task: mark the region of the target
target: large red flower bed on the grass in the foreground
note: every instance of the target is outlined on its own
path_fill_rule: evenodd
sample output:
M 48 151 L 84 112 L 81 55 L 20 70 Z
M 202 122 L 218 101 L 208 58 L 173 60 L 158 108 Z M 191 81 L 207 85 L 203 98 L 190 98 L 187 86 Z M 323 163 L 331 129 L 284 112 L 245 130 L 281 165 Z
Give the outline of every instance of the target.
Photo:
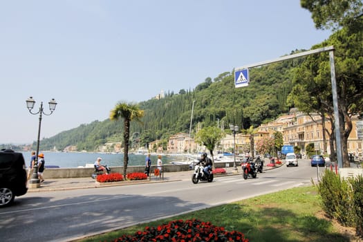
M 202 222 L 198 219 L 170 221 L 158 227 L 145 227 L 133 235 L 124 235 L 117 242 L 124 241 L 242 241 L 248 242 L 241 232 L 227 232 L 224 227 L 216 227 L 210 222 Z

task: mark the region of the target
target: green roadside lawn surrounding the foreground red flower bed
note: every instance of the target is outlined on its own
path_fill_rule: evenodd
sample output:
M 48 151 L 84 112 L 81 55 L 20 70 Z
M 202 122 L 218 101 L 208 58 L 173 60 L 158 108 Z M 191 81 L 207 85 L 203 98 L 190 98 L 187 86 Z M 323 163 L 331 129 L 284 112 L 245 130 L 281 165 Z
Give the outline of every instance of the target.
M 134 234 L 146 226 L 156 227 L 176 219 L 198 218 L 213 225 L 236 230 L 250 241 L 349 241 L 330 221 L 316 216 L 322 211 L 316 187 L 297 187 L 198 212 L 127 227 L 89 237 L 87 241 L 113 241 L 122 234 Z

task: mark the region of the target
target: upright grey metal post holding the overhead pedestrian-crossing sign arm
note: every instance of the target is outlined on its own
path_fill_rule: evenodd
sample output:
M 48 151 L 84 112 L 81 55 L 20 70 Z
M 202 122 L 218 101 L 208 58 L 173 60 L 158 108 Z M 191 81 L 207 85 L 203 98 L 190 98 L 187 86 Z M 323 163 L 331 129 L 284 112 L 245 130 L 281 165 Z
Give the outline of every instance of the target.
M 335 64 L 334 64 L 334 51 L 329 51 L 329 61 L 331 63 L 331 92 L 333 94 L 333 108 L 334 108 L 334 120 L 335 120 L 335 141 L 337 142 L 337 161 L 338 167 L 343 167 L 342 156 L 342 141 L 340 136 L 340 122 L 339 122 L 339 106 L 337 98 L 337 81 L 335 80 Z

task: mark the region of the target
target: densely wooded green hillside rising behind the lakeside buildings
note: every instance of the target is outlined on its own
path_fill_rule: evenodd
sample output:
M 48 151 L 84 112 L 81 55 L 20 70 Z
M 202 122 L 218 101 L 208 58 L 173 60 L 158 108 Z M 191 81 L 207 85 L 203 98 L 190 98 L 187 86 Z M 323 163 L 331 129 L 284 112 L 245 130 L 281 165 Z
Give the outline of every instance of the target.
M 299 62 L 301 59 L 294 59 L 252 68 L 247 87 L 236 89 L 234 73 L 225 72 L 214 79 L 207 77 L 194 90 L 169 91 L 160 100 L 140 102 L 145 116 L 142 123 L 131 122 L 131 149 L 136 145 L 145 147 L 153 140 L 167 140 L 178 132 L 189 133 L 194 100 L 192 133 L 198 124 L 216 126 L 218 123 L 227 130 L 228 124 L 233 123 L 248 129 L 274 120 L 288 111 L 286 98 L 292 90 L 294 67 Z M 123 123 L 105 118 L 45 138 L 40 142 L 40 149 L 62 150 L 76 145 L 78 150 L 96 151 L 106 142 L 121 142 Z

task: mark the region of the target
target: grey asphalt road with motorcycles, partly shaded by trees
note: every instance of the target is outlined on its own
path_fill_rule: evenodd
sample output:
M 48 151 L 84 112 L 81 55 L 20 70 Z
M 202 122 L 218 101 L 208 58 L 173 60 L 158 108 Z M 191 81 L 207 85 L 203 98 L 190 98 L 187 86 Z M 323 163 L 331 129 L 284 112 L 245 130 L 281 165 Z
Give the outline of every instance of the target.
M 299 167 L 282 166 L 248 180 L 243 180 L 239 174 L 216 177 L 213 183 L 195 185 L 191 181 L 192 171 L 187 171 L 162 183 L 29 192 L 17 198 L 14 206 L 0 210 L 0 237 L 7 238 L 6 241 L 71 241 L 136 223 L 309 185 L 311 178 L 316 176 L 315 172 L 315 167 L 301 162 Z

